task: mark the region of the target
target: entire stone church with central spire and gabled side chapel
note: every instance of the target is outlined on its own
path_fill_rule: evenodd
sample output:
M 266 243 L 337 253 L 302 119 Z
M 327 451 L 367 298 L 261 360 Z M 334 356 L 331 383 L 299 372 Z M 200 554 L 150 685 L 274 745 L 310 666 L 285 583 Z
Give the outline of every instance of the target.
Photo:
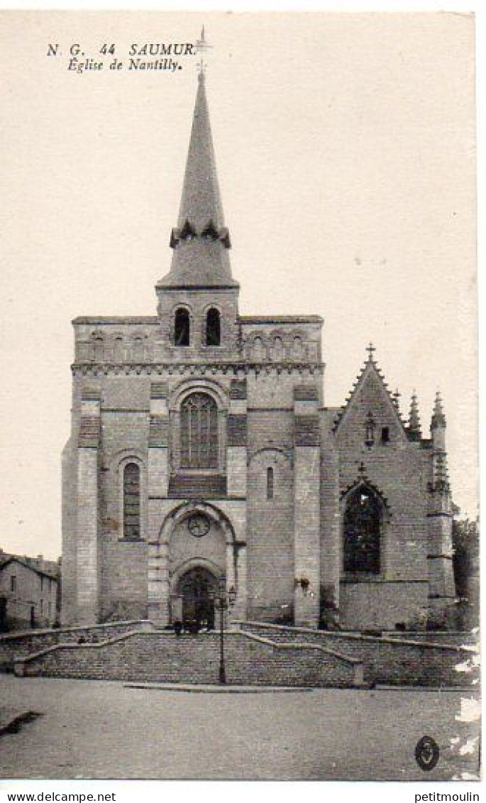
M 446 421 L 408 422 L 372 346 L 341 408 L 322 318 L 241 316 L 206 100 L 170 271 L 146 317 L 73 321 L 63 624 L 233 618 L 346 630 L 441 622 L 455 597 Z

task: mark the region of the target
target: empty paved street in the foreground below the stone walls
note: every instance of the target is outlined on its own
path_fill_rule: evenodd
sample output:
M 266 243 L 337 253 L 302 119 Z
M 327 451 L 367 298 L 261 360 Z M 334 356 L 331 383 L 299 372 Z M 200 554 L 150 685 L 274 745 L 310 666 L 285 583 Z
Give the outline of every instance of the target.
M 0 700 L 43 716 L 0 737 L 4 778 L 446 780 L 477 772 L 460 691 L 194 694 L 0 675 Z M 476 731 L 475 731 L 476 732 Z M 433 736 L 423 772 L 415 744 Z M 452 740 L 456 740 L 452 744 Z

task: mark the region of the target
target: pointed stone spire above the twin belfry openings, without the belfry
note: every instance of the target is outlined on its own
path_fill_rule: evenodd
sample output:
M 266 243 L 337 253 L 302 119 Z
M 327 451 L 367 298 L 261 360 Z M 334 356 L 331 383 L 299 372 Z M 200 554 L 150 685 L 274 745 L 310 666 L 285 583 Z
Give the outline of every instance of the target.
M 213 137 L 205 89 L 205 72 L 198 75 L 184 185 L 170 273 L 157 287 L 237 287 L 229 265 L 231 247 L 225 227 L 217 181 Z

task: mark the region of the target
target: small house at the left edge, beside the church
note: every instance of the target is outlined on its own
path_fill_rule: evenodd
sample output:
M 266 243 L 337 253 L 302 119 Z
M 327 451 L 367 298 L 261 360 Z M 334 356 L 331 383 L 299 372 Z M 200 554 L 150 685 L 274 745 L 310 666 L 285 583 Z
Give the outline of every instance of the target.
M 59 565 L 0 550 L 0 632 L 59 622 Z

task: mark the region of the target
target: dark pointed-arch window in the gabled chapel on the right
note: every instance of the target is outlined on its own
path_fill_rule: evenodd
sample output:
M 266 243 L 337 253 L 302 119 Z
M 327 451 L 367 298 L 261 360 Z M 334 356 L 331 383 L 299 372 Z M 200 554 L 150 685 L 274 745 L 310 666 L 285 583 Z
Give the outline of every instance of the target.
M 344 511 L 344 571 L 379 574 L 382 502 L 370 487 L 350 492 Z

